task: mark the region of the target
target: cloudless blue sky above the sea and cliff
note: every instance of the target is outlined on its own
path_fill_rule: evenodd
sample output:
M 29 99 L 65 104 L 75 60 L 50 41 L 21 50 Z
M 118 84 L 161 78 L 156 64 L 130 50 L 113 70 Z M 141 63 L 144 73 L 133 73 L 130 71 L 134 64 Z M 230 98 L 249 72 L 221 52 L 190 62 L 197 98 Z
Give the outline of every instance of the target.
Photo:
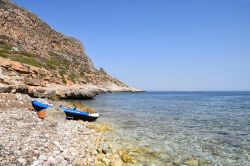
M 250 90 L 250 0 L 14 0 L 146 90 Z

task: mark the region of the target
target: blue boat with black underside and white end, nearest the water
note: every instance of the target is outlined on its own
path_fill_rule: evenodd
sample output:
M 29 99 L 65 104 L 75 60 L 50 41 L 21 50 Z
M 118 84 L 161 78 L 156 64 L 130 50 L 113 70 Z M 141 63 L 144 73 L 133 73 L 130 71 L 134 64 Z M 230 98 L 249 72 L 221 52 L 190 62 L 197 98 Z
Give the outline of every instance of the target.
M 61 105 L 59 108 L 65 112 L 68 118 L 72 118 L 75 120 L 80 119 L 84 121 L 95 121 L 99 117 L 98 113 L 82 112 L 77 108 L 68 108 L 64 105 Z

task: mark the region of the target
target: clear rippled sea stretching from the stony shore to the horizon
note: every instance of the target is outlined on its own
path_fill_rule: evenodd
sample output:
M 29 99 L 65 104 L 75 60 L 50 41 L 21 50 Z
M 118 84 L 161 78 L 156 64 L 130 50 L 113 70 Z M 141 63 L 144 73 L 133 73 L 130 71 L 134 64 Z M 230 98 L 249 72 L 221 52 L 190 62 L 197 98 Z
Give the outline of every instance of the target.
M 156 165 L 197 158 L 202 165 L 250 164 L 250 92 L 104 94 L 83 101 L 115 128 L 120 147 L 145 147 Z

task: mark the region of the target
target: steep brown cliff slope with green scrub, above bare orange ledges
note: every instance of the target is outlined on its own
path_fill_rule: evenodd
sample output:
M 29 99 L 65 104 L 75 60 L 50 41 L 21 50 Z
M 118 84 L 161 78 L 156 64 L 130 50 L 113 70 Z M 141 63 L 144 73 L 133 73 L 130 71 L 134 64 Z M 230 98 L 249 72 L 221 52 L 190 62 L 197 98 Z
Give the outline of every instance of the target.
M 80 41 L 55 31 L 24 8 L 0 0 L 0 24 L 0 57 L 44 68 L 61 85 L 111 83 L 126 87 L 103 69 L 96 69 Z

